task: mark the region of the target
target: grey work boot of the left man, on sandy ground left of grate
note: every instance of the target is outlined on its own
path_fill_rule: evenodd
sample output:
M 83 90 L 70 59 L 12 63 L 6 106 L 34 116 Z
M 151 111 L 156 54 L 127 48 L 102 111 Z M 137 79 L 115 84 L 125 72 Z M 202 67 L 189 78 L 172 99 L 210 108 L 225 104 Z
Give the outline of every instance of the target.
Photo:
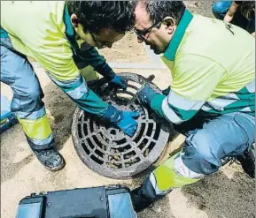
M 39 162 L 41 162 L 46 169 L 58 171 L 65 166 L 64 158 L 55 148 L 34 150 L 34 152 Z

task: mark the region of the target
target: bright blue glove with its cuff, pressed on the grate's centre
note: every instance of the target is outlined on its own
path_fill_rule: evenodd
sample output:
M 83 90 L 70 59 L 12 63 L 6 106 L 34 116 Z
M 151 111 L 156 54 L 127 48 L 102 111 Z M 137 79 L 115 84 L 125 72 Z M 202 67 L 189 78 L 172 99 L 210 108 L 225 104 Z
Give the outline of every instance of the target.
M 139 117 L 137 111 L 121 111 L 109 105 L 103 118 L 116 124 L 125 134 L 132 137 L 137 128 L 137 122 L 134 118 Z

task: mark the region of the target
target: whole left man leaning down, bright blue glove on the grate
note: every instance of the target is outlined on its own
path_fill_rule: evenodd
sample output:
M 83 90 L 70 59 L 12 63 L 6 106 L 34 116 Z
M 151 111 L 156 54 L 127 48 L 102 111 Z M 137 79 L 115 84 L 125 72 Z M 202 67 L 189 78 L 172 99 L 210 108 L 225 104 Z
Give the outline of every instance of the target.
M 132 136 L 138 114 L 120 111 L 102 101 L 86 85 L 79 68 L 91 65 L 110 84 L 126 89 L 126 81 L 112 71 L 94 47 L 111 48 L 133 22 L 129 2 L 1 2 L 1 81 L 12 87 L 12 112 L 29 146 L 47 169 L 62 169 L 65 164 L 54 149 L 43 92 L 27 56 L 41 64 L 81 109 Z

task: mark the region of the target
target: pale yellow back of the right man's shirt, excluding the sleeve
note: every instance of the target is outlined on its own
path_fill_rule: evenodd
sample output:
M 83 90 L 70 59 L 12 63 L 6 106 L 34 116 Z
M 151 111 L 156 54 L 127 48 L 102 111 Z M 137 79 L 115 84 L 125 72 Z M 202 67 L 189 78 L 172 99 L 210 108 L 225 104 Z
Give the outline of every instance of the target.
M 205 56 L 221 64 L 226 70 L 223 84 L 238 91 L 242 83 L 246 86 L 255 78 L 254 40 L 251 34 L 240 27 L 219 19 L 195 15 L 182 41 L 182 53 Z M 238 86 L 234 84 L 235 81 Z

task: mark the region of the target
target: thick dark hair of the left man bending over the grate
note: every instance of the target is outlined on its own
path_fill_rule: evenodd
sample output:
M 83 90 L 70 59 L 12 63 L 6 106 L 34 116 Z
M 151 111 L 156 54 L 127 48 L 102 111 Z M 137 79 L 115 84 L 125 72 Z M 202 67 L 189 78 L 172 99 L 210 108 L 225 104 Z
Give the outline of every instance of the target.
M 125 33 L 135 23 L 134 5 L 130 1 L 70 1 L 69 14 L 75 14 L 84 30 L 98 34 L 100 29 L 111 28 Z

